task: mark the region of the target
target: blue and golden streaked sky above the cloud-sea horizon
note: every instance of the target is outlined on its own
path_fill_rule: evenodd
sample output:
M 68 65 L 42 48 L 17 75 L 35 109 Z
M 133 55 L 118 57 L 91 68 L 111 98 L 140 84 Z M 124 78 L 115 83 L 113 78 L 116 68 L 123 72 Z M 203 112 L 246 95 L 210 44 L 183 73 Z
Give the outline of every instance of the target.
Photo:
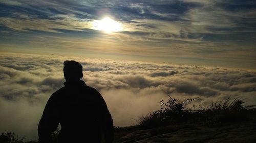
M 0 48 L 255 70 L 255 15 L 255 1 L 1 0 Z M 105 17 L 121 30 L 95 28 Z

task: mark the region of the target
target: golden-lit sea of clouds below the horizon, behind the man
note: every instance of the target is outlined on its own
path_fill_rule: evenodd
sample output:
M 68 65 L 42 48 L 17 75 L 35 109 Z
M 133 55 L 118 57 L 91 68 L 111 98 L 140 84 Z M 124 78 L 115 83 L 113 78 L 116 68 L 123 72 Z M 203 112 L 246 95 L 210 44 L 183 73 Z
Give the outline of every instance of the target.
M 105 99 L 115 126 L 135 125 L 160 108 L 168 94 L 207 106 L 219 98 L 242 97 L 256 104 L 256 72 L 207 66 L 173 65 L 57 55 L 0 55 L 0 132 L 37 139 L 37 125 L 48 98 L 63 87 L 63 61 L 83 66 L 83 80 Z

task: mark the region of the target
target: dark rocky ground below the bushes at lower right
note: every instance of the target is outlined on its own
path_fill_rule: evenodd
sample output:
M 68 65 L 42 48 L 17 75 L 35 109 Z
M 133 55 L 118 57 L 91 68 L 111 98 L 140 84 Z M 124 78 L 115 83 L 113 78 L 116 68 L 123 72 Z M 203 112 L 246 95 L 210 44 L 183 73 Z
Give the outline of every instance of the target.
M 136 130 L 120 137 L 115 142 L 255 143 L 256 121 L 214 125 L 172 125 L 157 129 Z

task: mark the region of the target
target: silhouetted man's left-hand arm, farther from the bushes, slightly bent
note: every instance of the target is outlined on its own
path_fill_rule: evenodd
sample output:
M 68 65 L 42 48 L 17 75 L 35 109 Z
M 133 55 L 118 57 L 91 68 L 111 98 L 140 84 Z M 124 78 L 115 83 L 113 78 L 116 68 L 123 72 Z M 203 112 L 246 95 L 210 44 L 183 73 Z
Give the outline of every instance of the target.
M 39 143 L 51 143 L 52 133 L 57 129 L 59 125 L 57 110 L 57 100 L 54 94 L 49 98 L 45 110 L 42 113 L 41 120 L 38 124 L 38 142 Z

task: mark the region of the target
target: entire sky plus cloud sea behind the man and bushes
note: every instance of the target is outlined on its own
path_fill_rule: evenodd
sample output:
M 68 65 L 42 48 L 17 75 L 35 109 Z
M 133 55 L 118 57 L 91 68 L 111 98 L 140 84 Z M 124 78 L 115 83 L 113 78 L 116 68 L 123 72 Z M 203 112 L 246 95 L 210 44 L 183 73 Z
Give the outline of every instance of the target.
M 65 60 L 81 63 L 115 126 L 168 94 L 256 105 L 255 15 L 255 1 L 0 0 L 0 133 L 37 139 Z

